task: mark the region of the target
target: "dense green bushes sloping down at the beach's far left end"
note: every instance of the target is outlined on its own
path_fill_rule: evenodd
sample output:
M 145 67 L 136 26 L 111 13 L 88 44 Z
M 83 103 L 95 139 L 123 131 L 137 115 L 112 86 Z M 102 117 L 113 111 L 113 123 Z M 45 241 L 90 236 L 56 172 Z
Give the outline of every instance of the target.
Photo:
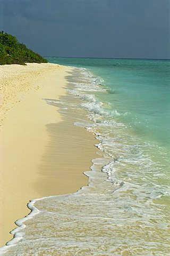
M 20 44 L 15 36 L 0 31 L 0 65 L 25 65 L 25 62 L 46 63 L 48 61 L 28 49 L 26 45 Z

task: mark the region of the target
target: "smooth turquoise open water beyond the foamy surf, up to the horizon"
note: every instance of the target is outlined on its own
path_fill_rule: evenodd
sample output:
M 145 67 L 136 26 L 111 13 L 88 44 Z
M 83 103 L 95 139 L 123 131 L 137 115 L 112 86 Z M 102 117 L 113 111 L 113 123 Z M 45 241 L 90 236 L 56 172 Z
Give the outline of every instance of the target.
M 170 61 L 128 59 L 48 58 L 67 66 L 88 68 L 104 79 L 105 94 L 97 95 L 121 114 L 146 140 L 170 147 Z M 143 138 L 144 139 L 144 138 Z

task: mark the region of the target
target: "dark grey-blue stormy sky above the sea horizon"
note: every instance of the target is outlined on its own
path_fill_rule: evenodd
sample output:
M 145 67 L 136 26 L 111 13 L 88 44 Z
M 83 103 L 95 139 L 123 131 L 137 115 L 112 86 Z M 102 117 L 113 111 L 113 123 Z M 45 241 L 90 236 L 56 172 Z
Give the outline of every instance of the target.
M 170 0 L 0 0 L 0 30 L 44 56 L 170 58 Z

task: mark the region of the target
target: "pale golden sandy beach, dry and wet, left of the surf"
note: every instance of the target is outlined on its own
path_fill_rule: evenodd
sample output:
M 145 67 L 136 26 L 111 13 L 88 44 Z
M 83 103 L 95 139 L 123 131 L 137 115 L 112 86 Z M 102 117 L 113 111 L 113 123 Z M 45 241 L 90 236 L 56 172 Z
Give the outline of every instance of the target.
M 93 135 L 43 100 L 66 94 L 69 71 L 51 63 L 0 66 L 1 246 L 12 239 L 14 221 L 29 213 L 30 199 L 87 185 L 82 172 L 96 155 Z

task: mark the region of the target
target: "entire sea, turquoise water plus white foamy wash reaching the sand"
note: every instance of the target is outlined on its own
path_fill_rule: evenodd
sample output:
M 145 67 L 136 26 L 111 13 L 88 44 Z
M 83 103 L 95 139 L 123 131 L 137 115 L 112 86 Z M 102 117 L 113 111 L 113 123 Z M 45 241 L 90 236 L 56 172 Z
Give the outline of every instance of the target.
M 86 111 L 74 125 L 95 135 L 98 158 L 87 187 L 29 204 L 5 255 L 170 255 L 170 61 L 48 61 L 74 67 L 70 101 L 47 103 Z

